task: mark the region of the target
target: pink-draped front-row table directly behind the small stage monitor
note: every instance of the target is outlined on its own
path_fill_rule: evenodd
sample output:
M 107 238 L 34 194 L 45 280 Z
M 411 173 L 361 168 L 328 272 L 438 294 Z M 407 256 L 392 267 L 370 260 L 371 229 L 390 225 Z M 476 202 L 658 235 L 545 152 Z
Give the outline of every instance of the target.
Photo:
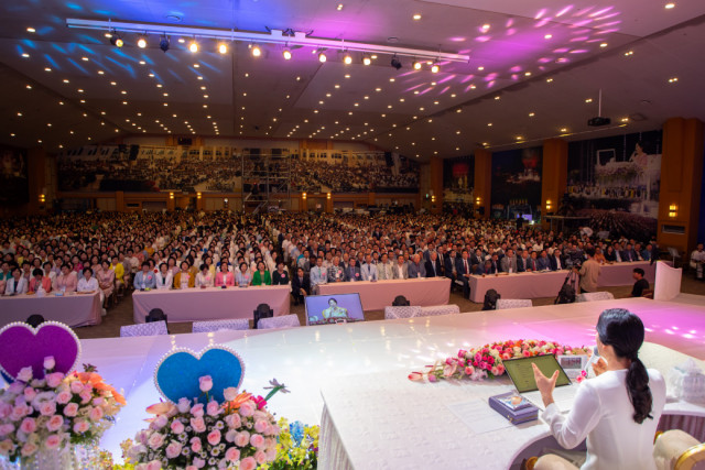
M 446 305 L 451 297 L 451 280 L 447 277 L 421 277 L 378 282 L 340 282 L 318 286 L 321 295 L 359 293 L 362 309 L 383 310 L 394 297 L 403 295 L 411 305 L 430 307 Z

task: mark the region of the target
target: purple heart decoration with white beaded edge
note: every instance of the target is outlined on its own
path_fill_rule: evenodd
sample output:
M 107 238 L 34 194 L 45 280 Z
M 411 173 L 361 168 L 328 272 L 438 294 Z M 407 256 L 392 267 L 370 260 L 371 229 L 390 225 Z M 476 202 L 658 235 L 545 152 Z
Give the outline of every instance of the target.
M 45 321 L 34 329 L 12 323 L 0 329 L 0 369 L 17 378 L 22 368 L 32 367 L 33 378 L 44 378 L 44 358 L 53 356 L 55 372 L 73 371 L 80 357 L 80 342 L 66 325 Z

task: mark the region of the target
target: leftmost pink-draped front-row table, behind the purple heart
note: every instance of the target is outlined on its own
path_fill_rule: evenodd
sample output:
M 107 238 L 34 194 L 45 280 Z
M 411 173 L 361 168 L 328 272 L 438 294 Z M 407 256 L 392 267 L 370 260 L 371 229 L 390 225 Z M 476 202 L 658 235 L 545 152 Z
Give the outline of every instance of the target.
M 61 296 L 48 293 L 43 297 L 37 297 L 36 294 L 21 294 L 0 297 L 0 327 L 12 321 L 24 321 L 33 314 L 70 327 L 84 327 L 99 325 L 101 313 L 102 306 L 98 293 L 66 293 Z

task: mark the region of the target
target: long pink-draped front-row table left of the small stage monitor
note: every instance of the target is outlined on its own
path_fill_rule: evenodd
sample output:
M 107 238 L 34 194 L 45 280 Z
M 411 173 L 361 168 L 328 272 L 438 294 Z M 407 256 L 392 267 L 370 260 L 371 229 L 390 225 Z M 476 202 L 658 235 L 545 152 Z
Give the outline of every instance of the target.
M 268 304 L 275 316 L 289 315 L 290 292 L 288 285 L 135 291 L 134 323 L 143 324 L 152 308 L 164 310 L 169 321 L 252 318 L 259 304 Z

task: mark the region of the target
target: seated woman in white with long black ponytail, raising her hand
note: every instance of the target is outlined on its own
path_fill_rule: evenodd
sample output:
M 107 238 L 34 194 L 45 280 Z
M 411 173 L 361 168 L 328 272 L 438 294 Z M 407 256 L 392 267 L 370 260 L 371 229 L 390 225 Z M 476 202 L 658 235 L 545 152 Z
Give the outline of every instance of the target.
M 603 311 L 597 321 L 599 360 L 595 379 L 583 382 L 571 413 L 553 403 L 557 371 L 550 379 L 534 364 L 534 378 L 546 409 L 542 418 L 558 444 L 572 449 L 587 438 L 587 455 L 574 459 L 581 469 L 655 469 L 653 436 L 665 404 L 665 382 L 639 360 L 644 329 L 641 319 L 622 308 Z M 545 455 L 541 469 L 576 468 L 562 457 Z

